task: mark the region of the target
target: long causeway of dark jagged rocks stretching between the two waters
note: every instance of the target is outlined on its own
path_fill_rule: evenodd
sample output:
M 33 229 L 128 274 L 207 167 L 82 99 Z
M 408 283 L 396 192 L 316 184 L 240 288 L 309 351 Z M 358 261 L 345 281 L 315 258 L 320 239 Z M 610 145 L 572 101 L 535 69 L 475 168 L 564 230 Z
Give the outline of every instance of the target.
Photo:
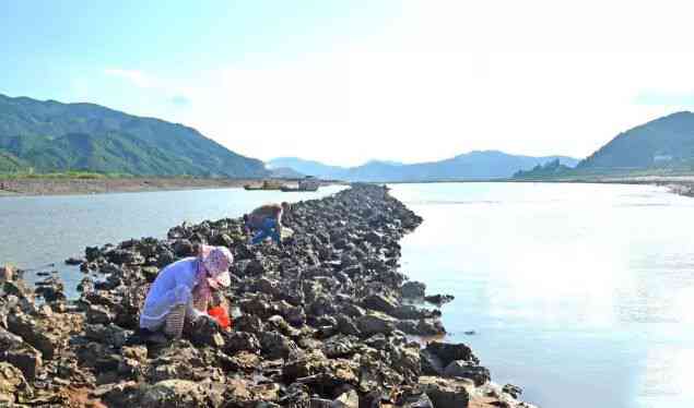
M 250 247 L 240 219 L 86 248 L 81 298 L 0 274 L 0 404 L 73 407 L 529 407 L 442 336 L 426 287 L 399 272 L 398 241 L 422 219 L 377 185 L 292 206 L 294 236 Z M 158 271 L 201 243 L 234 253 L 233 329 L 200 320 L 184 338 L 145 338 L 138 313 Z M 35 296 L 45 303 L 35 303 Z M 427 300 L 440 304 L 446 296 Z M 410 302 L 410 303 L 408 303 Z

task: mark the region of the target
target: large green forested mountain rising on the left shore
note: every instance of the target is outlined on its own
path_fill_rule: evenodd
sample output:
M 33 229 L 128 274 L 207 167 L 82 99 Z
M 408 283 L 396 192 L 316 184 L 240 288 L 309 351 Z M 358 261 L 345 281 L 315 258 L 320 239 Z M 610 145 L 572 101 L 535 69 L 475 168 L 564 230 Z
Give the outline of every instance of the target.
M 94 104 L 0 94 L 0 172 L 96 171 L 134 176 L 264 177 L 238 155 L 183 124 Z

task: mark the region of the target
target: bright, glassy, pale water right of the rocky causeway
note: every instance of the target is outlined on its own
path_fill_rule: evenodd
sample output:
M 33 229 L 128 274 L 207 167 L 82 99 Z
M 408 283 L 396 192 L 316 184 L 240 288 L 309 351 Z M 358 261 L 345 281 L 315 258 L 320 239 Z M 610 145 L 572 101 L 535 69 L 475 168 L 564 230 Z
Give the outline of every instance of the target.
M 542 407 L 694 407 L 694 199 L 593 184 L 398 184 L 403 272 Z M 475 335 L 464 335 L 474 331 Z

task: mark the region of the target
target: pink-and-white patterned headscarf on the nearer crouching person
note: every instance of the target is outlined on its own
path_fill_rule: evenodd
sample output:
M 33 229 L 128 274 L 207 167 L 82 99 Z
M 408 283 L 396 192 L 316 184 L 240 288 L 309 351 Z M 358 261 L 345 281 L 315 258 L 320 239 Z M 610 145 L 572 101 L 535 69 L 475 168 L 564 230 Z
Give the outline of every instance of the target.
M 234 256 L 224 247 L 200 245 L 198 254 L 198 287 L 196 298 L 210 300 L 212 290 L 220 286 L 230 286 L 228 268 L 234 263 Z

